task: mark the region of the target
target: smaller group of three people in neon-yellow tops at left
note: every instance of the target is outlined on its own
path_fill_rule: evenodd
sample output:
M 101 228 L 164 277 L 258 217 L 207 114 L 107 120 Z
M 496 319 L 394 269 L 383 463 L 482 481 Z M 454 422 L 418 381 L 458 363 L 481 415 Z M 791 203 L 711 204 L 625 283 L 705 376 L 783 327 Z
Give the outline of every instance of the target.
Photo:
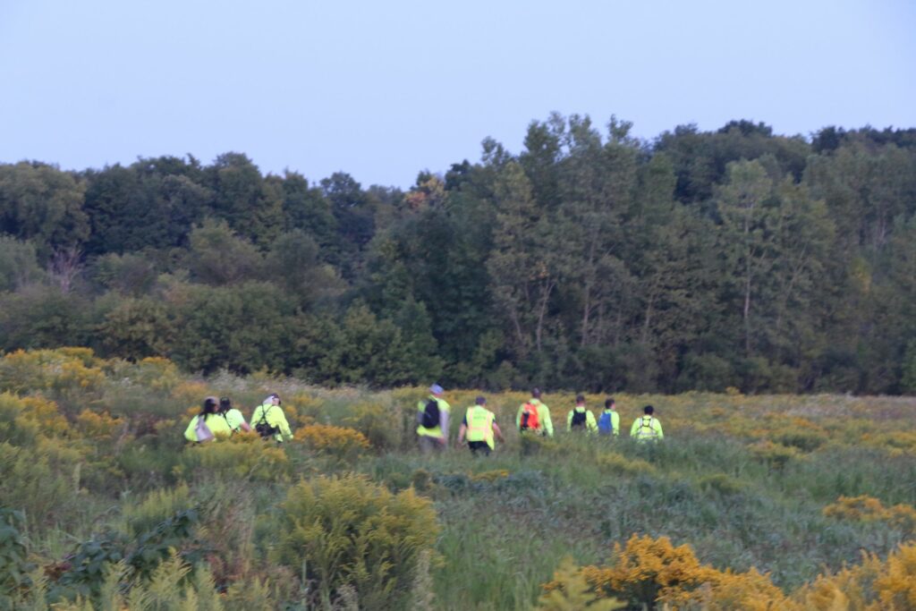
M 263 438 L 273 438 L 277 442 L 292 439 L 286 414 L 280 407 L 277 393 L 267 395 L 251 415 L 255 431 Z M 221 437 L 230 437 L 238 431 L 251 431 L 252 426 L 245 422 L 245 416 L 232 405 L 228 397 L 203 399 L 201 413 L 191 419 L 184 431 L 184 438 L 189 442 L 209 442 Z

